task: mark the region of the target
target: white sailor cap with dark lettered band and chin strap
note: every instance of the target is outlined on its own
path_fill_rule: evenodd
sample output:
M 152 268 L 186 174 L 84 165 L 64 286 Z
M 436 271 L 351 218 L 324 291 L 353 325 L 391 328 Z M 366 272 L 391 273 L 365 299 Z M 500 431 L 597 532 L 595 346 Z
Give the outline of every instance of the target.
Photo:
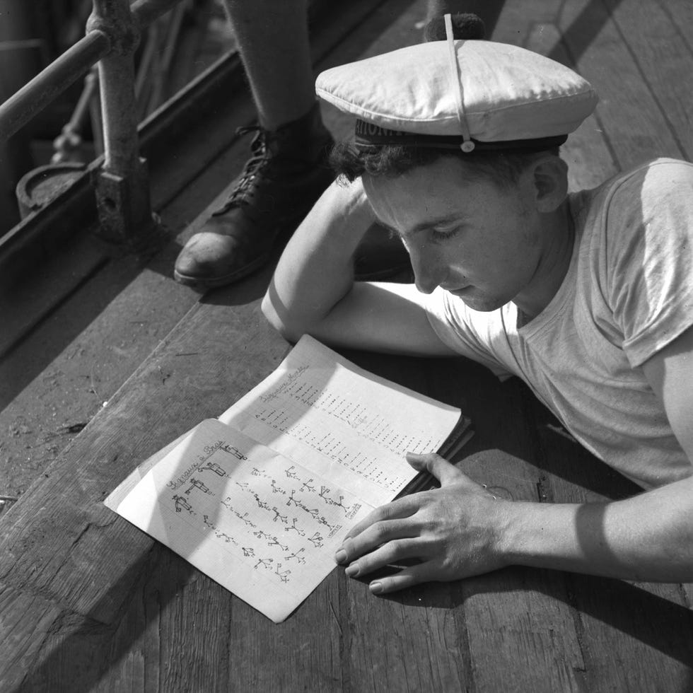
M 458 34 L 459 35 L 459 34 Z M 542 150 L 563 144 L 597 105 L 576 72 L 484 40 L 433 40 L 334 67 L 316 92 L 355 115 L 357 148 L 383 144 Z

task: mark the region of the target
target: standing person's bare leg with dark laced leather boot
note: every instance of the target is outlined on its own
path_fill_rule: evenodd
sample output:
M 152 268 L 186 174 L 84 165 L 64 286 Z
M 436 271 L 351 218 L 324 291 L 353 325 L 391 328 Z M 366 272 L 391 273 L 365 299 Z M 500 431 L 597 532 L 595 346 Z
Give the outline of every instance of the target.
M 260 127 L 252 156 L 221 209 L 180 252 L 174 276 L 208 289 L 269 258 L 332 182 L 332 137 L 315 102 L 306 0 L 226 0 Z M 252 129 L 251 129 L 252 130 Z

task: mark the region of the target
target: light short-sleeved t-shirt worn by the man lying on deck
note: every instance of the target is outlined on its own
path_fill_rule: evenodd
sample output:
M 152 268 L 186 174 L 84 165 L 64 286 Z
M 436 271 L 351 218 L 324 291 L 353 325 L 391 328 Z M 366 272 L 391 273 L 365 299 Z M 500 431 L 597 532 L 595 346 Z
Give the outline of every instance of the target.
M 642 364 L 693 325 L 693 165 L 658 159 L 571 194 L 571 264 L 540 315 L 467 308 L 438 288 L 426 309 L 445 344 L 518 375 L 590 452 L 650 488 L 693 467 Z M 692 422 L 693 425 L 693 422 Z

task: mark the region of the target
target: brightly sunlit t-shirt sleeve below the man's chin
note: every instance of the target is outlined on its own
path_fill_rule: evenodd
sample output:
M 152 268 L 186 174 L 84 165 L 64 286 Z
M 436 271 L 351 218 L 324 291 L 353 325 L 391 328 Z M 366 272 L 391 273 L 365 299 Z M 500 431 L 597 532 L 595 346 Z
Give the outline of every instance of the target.
M 498 339 L 499 311 L 479 313 L 440 287 L 426 298 L 424 308 L 431 327 L 450 349 L 487 366 L 501 380 L 513 375 L 491 348 Z

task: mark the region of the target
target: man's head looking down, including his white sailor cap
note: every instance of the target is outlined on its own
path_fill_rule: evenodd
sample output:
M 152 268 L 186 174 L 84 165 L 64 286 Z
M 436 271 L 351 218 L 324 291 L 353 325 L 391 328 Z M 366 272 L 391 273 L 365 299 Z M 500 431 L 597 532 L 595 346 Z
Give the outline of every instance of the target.
M 362 177 L 376 216 L 407 246 L 419 289 L 442 286 L 493 310 L 550 272 L 550 232 L 566 223 L 558 148 L 597 98 L 539 54 L 459 40 L 449 16 L 445 33 L 328 70 L 316 89 L 356 115 L 354 143 L 338 146 L 333 163 Z

